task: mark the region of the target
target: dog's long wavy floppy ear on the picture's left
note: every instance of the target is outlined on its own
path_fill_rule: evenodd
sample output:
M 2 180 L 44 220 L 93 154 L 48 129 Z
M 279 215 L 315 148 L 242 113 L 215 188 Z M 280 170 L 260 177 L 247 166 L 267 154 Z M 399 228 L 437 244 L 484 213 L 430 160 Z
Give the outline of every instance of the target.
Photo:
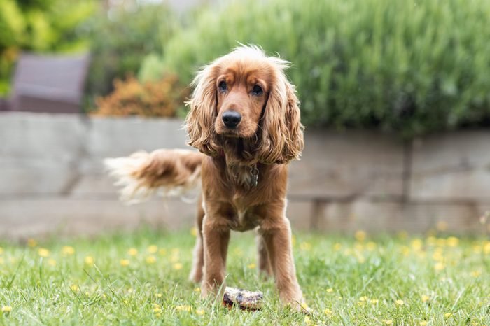
M 207 155 L 216 155 L 216 64 L 204 67 L 194 78 L 193 97 L 187 102 L 190 107 L 185 125 L 189 135 L 188 145 Z

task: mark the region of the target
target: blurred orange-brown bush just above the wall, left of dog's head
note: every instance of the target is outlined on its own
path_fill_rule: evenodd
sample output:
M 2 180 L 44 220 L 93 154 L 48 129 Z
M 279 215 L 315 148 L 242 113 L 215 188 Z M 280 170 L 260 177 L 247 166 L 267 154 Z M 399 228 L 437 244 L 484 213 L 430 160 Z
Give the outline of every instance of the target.
M 114 92 L 97 99 L 94 115 L 142 115 L 146 117 L 173 117 L 188 96 L 186 87 L 176 76 L 141 83 L 129 76 L 115 80 Z

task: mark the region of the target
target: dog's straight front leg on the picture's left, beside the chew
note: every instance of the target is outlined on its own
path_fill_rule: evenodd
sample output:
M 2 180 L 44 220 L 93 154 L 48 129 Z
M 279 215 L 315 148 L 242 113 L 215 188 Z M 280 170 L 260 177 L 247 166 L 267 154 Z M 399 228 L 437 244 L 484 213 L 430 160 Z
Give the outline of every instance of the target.
M 207 214 L 202 222 L 202 235 L 204 240 L 204 277 L 201 292 L 203 297 L 207 297 L 209 292 L 218 294 L 218 289 L 225 282 L 230 228 L 224 219 L 221 220 L 216 215 Z

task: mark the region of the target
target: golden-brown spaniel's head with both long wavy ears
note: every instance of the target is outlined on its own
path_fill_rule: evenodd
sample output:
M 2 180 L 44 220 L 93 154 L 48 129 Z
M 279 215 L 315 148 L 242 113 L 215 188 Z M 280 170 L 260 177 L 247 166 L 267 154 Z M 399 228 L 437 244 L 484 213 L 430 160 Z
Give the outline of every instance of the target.
M 256 143 L 259 162 L 299 158 L 303 126 L 294 86 L 283 72 L 287 65 L 260 48 L 241 46 L 205 66 L 188 102 L 189 145 L 213 156 L 220 153 L 219 139 L 241 138 Z

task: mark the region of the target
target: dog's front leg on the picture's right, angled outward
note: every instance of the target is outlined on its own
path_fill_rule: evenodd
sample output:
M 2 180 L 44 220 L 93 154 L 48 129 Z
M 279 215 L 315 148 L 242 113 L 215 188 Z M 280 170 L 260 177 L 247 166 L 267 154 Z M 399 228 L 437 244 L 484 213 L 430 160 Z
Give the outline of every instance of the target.
M 269 253 L 279 298 L 282 302 L 291 304 L 293 309 L 302 310 L 304 299 L 296 278 L 289 220 L 285 216 L 267 218 L 267 222 L 261 225 L 258 232 Z

